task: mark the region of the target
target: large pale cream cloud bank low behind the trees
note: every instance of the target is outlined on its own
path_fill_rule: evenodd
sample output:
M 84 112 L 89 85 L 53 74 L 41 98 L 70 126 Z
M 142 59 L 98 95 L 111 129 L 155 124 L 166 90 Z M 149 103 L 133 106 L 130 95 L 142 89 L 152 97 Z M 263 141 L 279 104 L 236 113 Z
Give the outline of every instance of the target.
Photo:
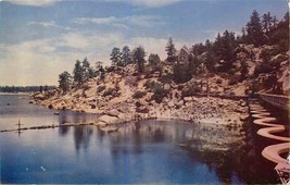
M 167 39 L 153 37 L 125 37 L 117 32 L 70 32 L 53 38 L 24 41 L 17 45 L 0 44 L 0 85 L 58 85 L 59 74 L 72 72 L 75 61 L 88 58 L 109 65 L 113 47 L 129 46 L 133 50 L 143 46 L 148 55 L 157 53 L 166 58 Z M 179 49 L 184 44 L 175 41 Z M 65 48 L 65 49 L 64 49 Z M 11 75 L 13 74 L 13 75 Z

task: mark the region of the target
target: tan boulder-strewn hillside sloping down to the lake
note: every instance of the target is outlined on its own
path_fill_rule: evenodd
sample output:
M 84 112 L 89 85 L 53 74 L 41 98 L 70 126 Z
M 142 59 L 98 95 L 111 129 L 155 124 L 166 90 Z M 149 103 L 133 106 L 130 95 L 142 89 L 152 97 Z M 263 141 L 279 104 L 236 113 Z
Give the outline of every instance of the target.
M 146 77 L 135 73 L 134 66 L 127 66 L 106 73 L 103 78 L 91 78 L 65 94 L 60 89 L 36 92 L 31 95 L 30 103 L 49 109 L 102 114 L 93 124 L 103 128 L 150 119 L 240 127 L 248 118 L 248 106 L 243 99 L 205 92 L 206 88 L 222 89 L 223 84 L 211 81 L 203 84 L 197 79 L 185 84 L 166 84 L 159 76 Z M 189 91 L 197 87 L 197 83 L 201 85 L 202 92 L 192 95 Z

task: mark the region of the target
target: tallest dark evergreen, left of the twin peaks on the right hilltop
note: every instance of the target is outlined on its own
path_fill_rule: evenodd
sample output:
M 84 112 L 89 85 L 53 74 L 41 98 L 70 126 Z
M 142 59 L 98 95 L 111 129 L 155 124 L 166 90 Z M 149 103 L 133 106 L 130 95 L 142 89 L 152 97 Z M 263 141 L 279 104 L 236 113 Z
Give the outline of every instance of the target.
M 250 22 L 247 24 L 247 33 L 249 40 L 255 47 L 261 47 L 264 44 L 264 35 L 262 30 L 262 23 L 257 11 L 253 11 Z

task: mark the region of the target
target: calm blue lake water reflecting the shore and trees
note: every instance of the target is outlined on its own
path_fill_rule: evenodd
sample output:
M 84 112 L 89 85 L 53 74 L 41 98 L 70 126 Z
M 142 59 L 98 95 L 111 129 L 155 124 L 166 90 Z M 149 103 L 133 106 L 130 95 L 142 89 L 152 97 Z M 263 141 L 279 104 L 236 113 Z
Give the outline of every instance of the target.
M 29 104 L 28 97 L 0 96 L 1 130 L 16 128 L 18 121 L 35 126 L 98 118 L 53 112 Z M 5 132 L 0 134 L 1 183 L 278 183 L 272 166 L 261 163 L 263 160 L 259 161 L 261 165 L 245 160 L 247 146 L 220 144 L 220 138 L 235 134 L 198 124 L 156 121 L 130 123 L 110 134 L 92 125 Z

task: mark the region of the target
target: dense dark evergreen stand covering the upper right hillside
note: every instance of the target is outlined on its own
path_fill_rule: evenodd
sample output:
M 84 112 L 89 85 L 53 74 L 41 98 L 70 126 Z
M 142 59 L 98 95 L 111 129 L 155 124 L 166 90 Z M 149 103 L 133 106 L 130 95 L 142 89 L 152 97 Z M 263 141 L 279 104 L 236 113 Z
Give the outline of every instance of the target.
M 218 34 L 214 41 L 209 39 L 205 44 L 196 44 L 190 49 L 188 61 L 179 63 L 175 55 L 176 49 L 173 39 L 169 38 L 166 52 L 167 61 L 174 66 L 174 79 L 177 83 L 189 81 L 192 75 L 201 75 L 206 72 L 232 72 L 232 63 L 237 60 L 237 48 L 240 44 L 261 47 L 263 45 L 276 46 L 272 53 L 286 52 L 289 49 L 289 12 L 283 20 L 278 21 L 276 16 L 265 13 L 261 17 L 254 10 L 242 28 L 242 35 L 236 36 L 234 32 L 225 30 Z M 266 53 L 264 55 L 268 55 Z M 245 78 L 248 66 L 241 62 L 240 81 Z

